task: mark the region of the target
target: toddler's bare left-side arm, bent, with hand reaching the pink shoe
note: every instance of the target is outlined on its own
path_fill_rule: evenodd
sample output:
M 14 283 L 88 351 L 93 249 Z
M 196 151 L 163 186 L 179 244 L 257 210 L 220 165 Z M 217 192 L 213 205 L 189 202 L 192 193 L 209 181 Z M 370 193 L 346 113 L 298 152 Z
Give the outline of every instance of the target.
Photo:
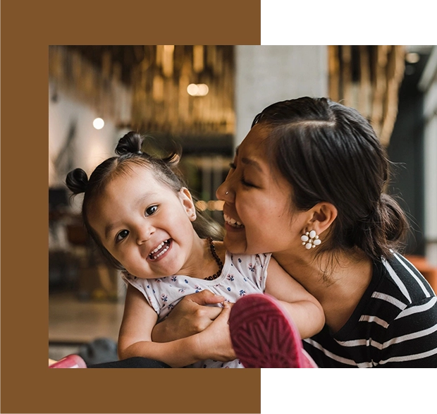
M 221 315 L 211 325 L 192 336 L 166 343 L 152 342 L 152 329 L 157 315 L 142 293 L 128 286 L 125 310 L 118 336 L 118 357 L 142 356 L 159 360 L 171 367 L 185 367 L 199 360 L 212 358 L 235 359 L 227 324 L 230 305 L 225 304 Z

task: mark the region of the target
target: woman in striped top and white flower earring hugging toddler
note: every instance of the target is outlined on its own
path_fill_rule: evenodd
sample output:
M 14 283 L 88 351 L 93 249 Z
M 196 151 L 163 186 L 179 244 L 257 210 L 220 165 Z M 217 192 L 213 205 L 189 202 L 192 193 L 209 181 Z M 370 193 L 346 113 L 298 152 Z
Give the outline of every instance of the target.
M 357 111 L 303 97 L 254 118 L 217 190 L 226 248 L 272 252 L 324 308 L 324 329 L 304 341 L 322 370 L 437 367 L 436 295 L 399 253 L 407 221 L 383 193 L 388 168 Z M 156 327 L 156 340 L 168 340 L 168 331 L 174 337 L 204 329 L 216 315 L 203 303 L 183 300 Z M 190 312 L 200 309 L 203 316 L 191 322 Z

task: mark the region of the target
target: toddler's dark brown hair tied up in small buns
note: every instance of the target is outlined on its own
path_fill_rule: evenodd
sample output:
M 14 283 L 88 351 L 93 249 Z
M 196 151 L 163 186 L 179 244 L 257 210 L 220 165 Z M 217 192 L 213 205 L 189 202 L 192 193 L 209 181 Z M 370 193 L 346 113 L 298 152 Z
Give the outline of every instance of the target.
M 116 157 L 106 159 L 94 169 L 90 178 L 82 169 L 74 169 L 67 174 L 66 185 L 73 195 L 84 193 L 82 202 L 82 220 L 87 232 L 92 240 L 97 244 L 106 260 L 117 269 L 124 270 L 121 263 L 115 260 L 112 255 L 101 244 L 99 236 L 90 226 L 88 212 L 99 195 L 104 192 L 106 185 L 116 176 L 123 175 L 132 170 L 133 166 L 143 166 L 152 170 L 155 178 L 166 185 L 168 188 L 178 193 L 181 188 L 186 187 L 185 181 L 177 169 L 180 161 L 181 151 L 177 150 L 168 154 L 168 157 L 153 157 L 146 152 L 142 152 L 142 142 L 145 136 L 131 131 L 118 141 L 116 147 Z M 195 197 L 193 197 L 195 200 Z M 212 220 L 204 212 L 197 210 L 197 218 L 193 222 L 196 233 L 201 238 L 211 237 L 214 240 L 223 240 L 223 229 L 216 221 Z

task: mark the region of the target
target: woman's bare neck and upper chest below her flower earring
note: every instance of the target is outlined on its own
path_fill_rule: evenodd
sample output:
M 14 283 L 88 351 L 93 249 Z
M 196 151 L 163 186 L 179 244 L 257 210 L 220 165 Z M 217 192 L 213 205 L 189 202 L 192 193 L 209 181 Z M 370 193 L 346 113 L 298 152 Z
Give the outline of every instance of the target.
M 372 262 L 362 252 L 355 255 L 273 254 L 279 264 L 309 291 L 324 308 L 326 324 L 338 331 L 357 307 L 370 284 Z M 326 269 L 324 271 L 324 269 Z

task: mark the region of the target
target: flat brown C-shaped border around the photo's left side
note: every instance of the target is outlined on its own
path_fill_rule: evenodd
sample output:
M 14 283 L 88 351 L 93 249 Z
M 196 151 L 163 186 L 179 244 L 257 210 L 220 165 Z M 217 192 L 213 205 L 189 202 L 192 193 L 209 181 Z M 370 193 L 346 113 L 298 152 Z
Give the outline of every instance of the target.
M 14 405 L 49 413 L 257 413 L 259 370 L 47 368 L 46 99 L 49 44 L 259 44 L 260 6 L 250 0 L 46 1 L 8 5 L 4 16 L 3 343 Z

